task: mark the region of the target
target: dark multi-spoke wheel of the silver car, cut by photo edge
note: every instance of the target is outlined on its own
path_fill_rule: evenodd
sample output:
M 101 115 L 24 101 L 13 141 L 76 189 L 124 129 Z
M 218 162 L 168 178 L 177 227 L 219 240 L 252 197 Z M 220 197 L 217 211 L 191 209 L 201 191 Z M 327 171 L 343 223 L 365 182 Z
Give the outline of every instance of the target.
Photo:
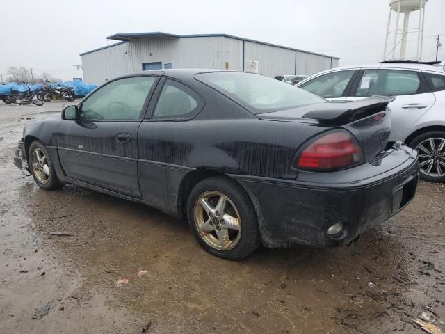
M 432 148 L 431 141 L 434 143 Z M 445 132 L 430 131 L 416 136 L 410 141 L 410 146 L 419 152 L 419 163 L 421 164 L 420 177 L 429 182 L 445 182 Z M 434 152 L 434 150 L 436 152 Z M 432 159 L 429 159 L 432 158 Z M 430 172 L 428 168 L 432 160 Z M 439 166 L 439 167 L 438 167 Z M 440 169 L 439 169 L 440 168 Z M 442 173 L 441 173 L 442 172 Z

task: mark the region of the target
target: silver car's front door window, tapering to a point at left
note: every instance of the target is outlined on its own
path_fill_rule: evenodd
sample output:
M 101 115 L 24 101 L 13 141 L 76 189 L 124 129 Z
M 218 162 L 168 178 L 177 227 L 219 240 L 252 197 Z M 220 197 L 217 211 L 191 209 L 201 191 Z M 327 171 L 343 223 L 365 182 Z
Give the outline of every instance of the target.
M 298 86 L 321 97 L 341 97 L 355 70 L 323 74 Z

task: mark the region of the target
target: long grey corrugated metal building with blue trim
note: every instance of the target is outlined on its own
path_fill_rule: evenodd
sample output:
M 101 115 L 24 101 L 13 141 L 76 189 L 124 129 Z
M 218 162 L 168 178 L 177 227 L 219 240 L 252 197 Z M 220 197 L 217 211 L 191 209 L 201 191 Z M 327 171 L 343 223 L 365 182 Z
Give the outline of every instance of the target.
M 101 84 L 140 70 L 218 68 L 280 74 L 314 74 L 339 65 L 339 58 L 225 34 L 116 33 L 120 42 L 84 52 L 83 80 Z

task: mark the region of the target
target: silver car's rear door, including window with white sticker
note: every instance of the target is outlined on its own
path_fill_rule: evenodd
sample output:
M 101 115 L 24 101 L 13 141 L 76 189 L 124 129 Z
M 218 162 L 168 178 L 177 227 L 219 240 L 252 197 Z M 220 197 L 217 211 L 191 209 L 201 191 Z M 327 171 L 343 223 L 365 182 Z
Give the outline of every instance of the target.
M 363 70 L 355 81 L 351 95 L 346 100 L 359 100 L 372 95 L 396 96 L 396 100 L 389 104 L 392 120 L 389 141 L 405 138 L 405 132 L 436 101 L 423 74 L 404 69 Z

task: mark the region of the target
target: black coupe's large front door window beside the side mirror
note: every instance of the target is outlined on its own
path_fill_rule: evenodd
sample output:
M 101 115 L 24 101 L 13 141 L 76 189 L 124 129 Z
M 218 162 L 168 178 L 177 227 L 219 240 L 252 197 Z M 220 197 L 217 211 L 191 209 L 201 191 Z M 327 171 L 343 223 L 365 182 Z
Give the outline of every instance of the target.
M 81 106 L 84 120 L 139 120 L 155 77 L 124 78 L 111 82 Z

